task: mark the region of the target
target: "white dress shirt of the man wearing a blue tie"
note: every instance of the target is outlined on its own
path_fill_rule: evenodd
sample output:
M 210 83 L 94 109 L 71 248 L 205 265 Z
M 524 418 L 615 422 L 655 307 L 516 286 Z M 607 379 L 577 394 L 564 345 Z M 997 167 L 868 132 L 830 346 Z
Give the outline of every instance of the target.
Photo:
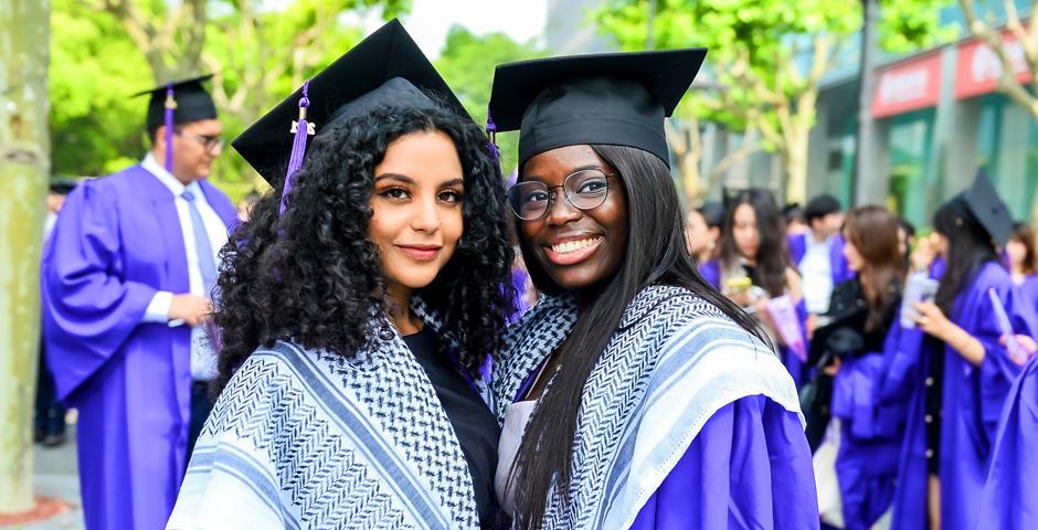
M 223 220 L 216 214 L 216 211 L 205 200 L 205 193 L 198 182 L 191 182 L 183 186 L 176 177 L 166 170 L 156 161 L 149 152 L 140 162 L 155 178 L 159 179 L 163 186 L 176 197 L 173 204 L 177 206 L 177 218 L 180 220 L 180 232 L 183 233 L 183 247 L 188 257 L 188 282 L 192 295 L 210 298 L 212 295 L 205 293 L 202 285 L 202 271 L 199 266 L 198 247 L 194 243 L 194 229 L 191 224 L 191 213 L 188 201 L 180 197 L 186 190 L 194 195 L 194 205 L 202 216 L 202 223 L 205 225 L 205 232 L 209 234 L 209 242 L 213 246 L 213 263 L 218 271 L 220 267 L 220 248 L 227 242 L 227 227 Z M 151 298 L 148 309 L 141 319 L 144 322 L 167 322 L 169 318 L 169 308 L 173 301 L 173 293 L 160 290 Z M 195 381 L 209 381 L 216 377 L 216 356 L 205 336 L 204 329 L 197 326 L 191 329 L 191 378 Z

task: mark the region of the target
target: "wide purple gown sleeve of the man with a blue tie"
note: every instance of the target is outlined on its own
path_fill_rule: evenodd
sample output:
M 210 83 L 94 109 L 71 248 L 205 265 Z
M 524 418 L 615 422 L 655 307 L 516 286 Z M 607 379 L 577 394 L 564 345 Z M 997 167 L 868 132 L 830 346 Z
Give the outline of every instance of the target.
M 68 195 L 44 248 L 43 331 L 63 400 L 119 351 L 157 292 L 121 279 L 118 210 L 98 188 L 84 182 Z

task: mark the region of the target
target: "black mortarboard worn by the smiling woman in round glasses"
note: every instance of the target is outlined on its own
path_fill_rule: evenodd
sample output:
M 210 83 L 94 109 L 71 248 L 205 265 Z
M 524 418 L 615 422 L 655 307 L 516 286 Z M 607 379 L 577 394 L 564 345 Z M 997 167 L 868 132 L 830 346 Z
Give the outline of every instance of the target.
M 519 130 L 519 165 L 573 145 L 618 145 L 670 165 L 664 118 L 699 72 L 706 49 L 602 53 L 498 65 L 490 116 Z

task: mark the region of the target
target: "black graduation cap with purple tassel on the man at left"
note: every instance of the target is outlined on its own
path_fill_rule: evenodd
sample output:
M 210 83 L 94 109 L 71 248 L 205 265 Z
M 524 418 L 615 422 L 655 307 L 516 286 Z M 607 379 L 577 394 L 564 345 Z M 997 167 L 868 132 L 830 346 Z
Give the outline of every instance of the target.
M 166 170 L 173 170 L 173 125 L 215 119 L 216 105 L 212 96 L 202 87 L 202 82 L 212 74 L 181 81 L 171 81 L 134 94 L 134 97 L 150 95 L 148 100 L 148 130 L 166 126 Z

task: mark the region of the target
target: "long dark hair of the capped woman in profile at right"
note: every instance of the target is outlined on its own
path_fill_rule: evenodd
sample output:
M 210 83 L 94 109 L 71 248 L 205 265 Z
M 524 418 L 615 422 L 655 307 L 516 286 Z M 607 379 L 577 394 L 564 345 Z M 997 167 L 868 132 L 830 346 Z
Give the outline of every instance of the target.
M 998 261 L 998 251 L 966 201 L 958 195 L 933 213 L 933 230 L 947 240 L 947 268 L 938 284 L 934 303 L 954 318 L 955 297 L 987 262 Z

